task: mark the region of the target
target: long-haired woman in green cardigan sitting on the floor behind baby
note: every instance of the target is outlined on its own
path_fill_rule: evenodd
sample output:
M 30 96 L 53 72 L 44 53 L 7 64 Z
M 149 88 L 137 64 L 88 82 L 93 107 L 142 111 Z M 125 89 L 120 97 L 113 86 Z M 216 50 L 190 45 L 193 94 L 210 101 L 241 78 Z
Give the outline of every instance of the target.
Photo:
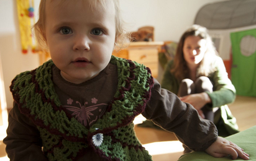
M 192 25 L 183 33 L 175 58 L 165 69 L 162 87 L 193 105 L 202 118 L 213 121 L 219 136 L 239 132 L 227 107 L 235 100 L 235 88 L 205 27 Z

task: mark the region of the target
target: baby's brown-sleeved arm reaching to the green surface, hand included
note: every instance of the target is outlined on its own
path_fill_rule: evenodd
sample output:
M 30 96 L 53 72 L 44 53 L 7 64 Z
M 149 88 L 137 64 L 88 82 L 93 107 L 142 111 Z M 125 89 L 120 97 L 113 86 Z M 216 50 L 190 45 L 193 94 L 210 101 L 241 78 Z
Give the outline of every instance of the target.
M 199 118 L 190 104 L 181 102 L 176 95 L 161 89 L 157 81 L 142 115 L 167 131 L 175 133 L 178 139 L 192 150 L 205 150 L 213 157 L 226 157 L 230 154 L 234 159 L 237 156 L 244 160 L 249 159 L 249 155 L 240 147 L 218 137 L 216 126 L 211 121 Z

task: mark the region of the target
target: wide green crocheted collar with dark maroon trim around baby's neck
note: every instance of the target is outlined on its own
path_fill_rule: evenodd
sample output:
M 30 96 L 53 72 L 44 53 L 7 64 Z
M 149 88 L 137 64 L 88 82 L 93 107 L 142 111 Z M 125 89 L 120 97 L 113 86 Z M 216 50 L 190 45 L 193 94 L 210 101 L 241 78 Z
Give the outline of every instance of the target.
M 85 140 L 91 140 L 97 133 L 106 134 L 131 123 L 144 111 L 150 98 L 153 79 L 148 68 L 114 56 L 110 63 L 117 66 L 117 92 L 103 118 L 99 118 L 89 129 L 60 104 L 52 82 L 52 60 L 33 71 L 17 75 L 10 89 L 21 112 L 37 126 L 69 141 L 87 142 Z

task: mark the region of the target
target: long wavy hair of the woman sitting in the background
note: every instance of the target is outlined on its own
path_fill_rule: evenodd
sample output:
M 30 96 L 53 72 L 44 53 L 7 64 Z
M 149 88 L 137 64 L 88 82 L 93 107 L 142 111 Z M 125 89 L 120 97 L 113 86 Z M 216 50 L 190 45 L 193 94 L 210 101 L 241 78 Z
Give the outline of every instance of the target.
M 213 41 L 211 40 L 210 35 L 208 34 L 208 30 L 201 25 L 192 25 L 188 28 L 185 33 L 180 38 L 178 42 L 178 46 L 176 49 L 175 58 L 173 60 L 173 67 L 171 68 L 171 73 L 179 80 L 182 81 L 185 78 L 189 78 L 189 69 L 186 65 L 186 61 L 183 53 L 184 42 L 187 37 L 195 36 L 200 37 L 206 40 L 206 53 L 204 54 L 204 58 L 199 63 L 199 67 L 197 69 L 197 76 L 209 76 L 211 72 L 214 72 L 216 69 L 213 68 L 214 56 L 217 56 L 218 53 L 215 49 Z

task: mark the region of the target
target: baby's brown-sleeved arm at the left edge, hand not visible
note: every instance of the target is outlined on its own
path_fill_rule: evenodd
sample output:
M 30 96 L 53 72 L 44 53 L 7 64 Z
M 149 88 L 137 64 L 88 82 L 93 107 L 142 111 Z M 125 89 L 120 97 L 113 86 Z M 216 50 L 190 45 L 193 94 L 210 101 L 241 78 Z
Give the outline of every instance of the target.
M 15 103 L 8 119 L 7 137 L 3 142 L 6 144 L 6 152 L 10 160 L 46 161 L 39 131 L 29 118 L 21 114 Z

